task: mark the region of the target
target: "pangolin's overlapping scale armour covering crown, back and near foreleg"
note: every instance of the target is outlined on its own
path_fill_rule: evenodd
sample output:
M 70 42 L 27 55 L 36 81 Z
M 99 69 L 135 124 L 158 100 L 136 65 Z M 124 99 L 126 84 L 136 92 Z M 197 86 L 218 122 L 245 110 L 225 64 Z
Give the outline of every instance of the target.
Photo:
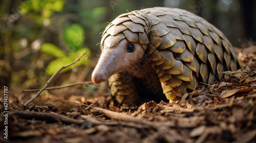
M 239 68 L 225 35 L 185 10 L 156 7 L 122 14 L 106 27 L 101 46 L 105 41 L 111 46 L 121 40 L 114 40 L 113 36 L 144 47 L 163 93 L 170 100 L 181 97 L 187 89 L 194 90 L 199 82 L 214 84 L 224 77 L 221 72 L 226 67 Z

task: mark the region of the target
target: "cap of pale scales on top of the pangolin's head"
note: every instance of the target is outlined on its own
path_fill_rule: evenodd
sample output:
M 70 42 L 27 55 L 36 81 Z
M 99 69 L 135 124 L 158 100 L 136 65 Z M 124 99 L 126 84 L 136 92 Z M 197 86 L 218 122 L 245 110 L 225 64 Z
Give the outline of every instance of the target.
M 140 43 L 146 50 L 148 41 L 148 22 L 142 12 L 133 11 L 119 15 L 104 30 L 101 39 L 101 48 L 115 46 L 123 38 L 131 42 Z M 166 28 L 167 31 L 168 28 Z M 167 34 L 167 33 L 166 33 Z M 103 49 L 101 49 L 103 50 Z

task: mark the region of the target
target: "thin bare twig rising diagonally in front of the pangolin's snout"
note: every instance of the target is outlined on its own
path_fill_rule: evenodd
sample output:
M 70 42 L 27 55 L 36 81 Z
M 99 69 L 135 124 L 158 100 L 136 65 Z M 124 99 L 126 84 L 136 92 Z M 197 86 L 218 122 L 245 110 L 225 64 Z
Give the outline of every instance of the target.
M 66 67 L 68 67 L 68 66 L 70 66 L 70 65 L 72 65 L 72 64 L 74 64 L 74 63 L 76 63 L 76 62 L 79 61 L 84 55 L 86 55 L 86 53 L 87 53 L 87 51 L 84 52 L 84 53 L 83 53 L 77 60 L 75 60 L 74 62 L 72 62 L 72 63 L 70 63 L 70 64 L 68 64 L 68 65 L 66 65 L 66 66 L 60 67 L 60 68 L 56 71 L 56 73 L 54 73 L 54 75 L 47 81 L 47 83 L 45 84 L 45 86 L 42 87 L 42 89 L 41 89 L 40 91 L 38 91 L 38 92 L 36 93 L 36 95 L 35 95 L 33 98 L 31 98 L 30 100 L 28 100 L 28 101 L 23 105 L 24 109 L 28 106 L 28 104 L 30 104 L 30 103 L 31 103 L 32 101 L 34 101 L 37 97 L 40 96 L 40 93 L 45 90 L 45 88 L 46 88 L 46 87 L 48 86 L 48 84 L 52 81 L 52 79 L 59 73 L 59 71 L 61 71 L 63 68 L 66 68 Z

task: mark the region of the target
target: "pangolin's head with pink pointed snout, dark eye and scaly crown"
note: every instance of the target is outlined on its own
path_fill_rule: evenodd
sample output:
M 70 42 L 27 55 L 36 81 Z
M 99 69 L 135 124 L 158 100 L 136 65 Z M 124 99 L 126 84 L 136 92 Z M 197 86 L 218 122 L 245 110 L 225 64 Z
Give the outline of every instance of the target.
M 143 13 L 133 11 L 119 15 L 104 30 L 101 55 L 92 74 L 96 84 L 115 73 L 133 70 L 148 44 L 148 23 Z

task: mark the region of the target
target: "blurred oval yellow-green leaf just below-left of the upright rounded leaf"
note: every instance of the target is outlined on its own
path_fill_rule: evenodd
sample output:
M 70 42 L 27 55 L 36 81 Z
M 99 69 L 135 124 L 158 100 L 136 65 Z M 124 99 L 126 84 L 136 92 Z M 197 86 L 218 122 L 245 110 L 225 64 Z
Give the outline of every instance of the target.
M 52 43 L 44 43 L 41 45 L 40 48 L 41 52 L 44 52 L 46 54 L 52 55 L 56 58 L 65 57 L 66 54 L 63 50 L 61 50 L 59 47 L 57 47 L 55 44 Z

